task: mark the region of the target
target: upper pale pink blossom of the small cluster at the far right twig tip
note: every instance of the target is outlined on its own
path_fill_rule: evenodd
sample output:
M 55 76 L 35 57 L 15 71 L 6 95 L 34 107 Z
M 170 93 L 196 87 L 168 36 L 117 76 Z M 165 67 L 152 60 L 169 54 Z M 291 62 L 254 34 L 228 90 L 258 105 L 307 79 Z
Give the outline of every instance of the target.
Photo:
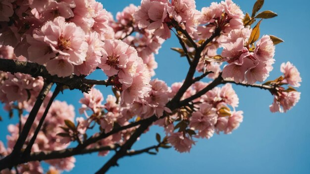
M 282 63 L 281 72 L 284 74 L 283 83 L 290 84 L 293 87 L 300 87 L 302 78 L 298 69 L 291 62 Z

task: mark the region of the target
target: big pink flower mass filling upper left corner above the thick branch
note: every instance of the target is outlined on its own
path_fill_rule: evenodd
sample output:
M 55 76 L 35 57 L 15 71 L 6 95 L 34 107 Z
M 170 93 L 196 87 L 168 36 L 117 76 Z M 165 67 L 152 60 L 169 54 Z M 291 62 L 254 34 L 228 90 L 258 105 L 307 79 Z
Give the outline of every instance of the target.
M 102 41 L 114 36 L 107 11 L 95 0 L 11 0 L 3 7 L 14 18 L 1 20 L 1 44 L 59 77 L 95 71 Z

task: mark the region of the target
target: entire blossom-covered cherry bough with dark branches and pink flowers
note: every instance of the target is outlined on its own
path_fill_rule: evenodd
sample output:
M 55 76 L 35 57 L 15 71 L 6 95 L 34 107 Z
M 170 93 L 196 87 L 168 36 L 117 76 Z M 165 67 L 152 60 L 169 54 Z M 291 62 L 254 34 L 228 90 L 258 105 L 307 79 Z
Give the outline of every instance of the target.
M 56 174 L 72 170 L 75 155 L 114 151 L 97 172 L 105 173 L 126 156 L 171 146 L 189 152 L 195 139 L 229 134 L 243 121 L 231 84 L 266 89 L 274 96 L 270 111 L 288 111 L 300 99 L 294 87 L 302 80 L 287 62 L 282 76 L 265 82 L 274 45 L 283 41 L 260 37 L 263 19 L 277 16 L 258 12 L 263 2 L 255 2 L 250 16 L 231 0 L 201 10 L 195 0 L 142 0 L 113 20 L 95 0 L 0 0 L 0 101 L 19 118 L 8 126 L 7 144 L 0 141 L 0 173 Z M 155 54 L 171 34 L 181 45 L 172 50 L 186 57 L 189 69 L 183 82 L 168 87 L 151 79 Z M 107 79 L 87 78 L 99 69 Z M 207 78 L 212 81 L 201 81 Z M 95 85 L 111 86 L 114 95 L 104 102 Z M 81 117 L 55 100 L 66 89 L 83 92 Z M 152 125 L 165 136 L 157 133 L 157 144 L 133 150 Z M 69 147 L 72 142 L 77 146 Z

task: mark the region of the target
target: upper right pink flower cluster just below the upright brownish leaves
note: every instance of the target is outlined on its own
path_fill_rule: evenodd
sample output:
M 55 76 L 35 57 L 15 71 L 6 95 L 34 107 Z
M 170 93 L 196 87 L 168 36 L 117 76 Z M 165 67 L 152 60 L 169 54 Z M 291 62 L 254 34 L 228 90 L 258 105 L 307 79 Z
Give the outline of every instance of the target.
M 236 83 L 254 84 L 263 82 L 273 69 L 275 47 L 269 36 L 264 35 L 256 43 L 254 52 L 245 47 L 251 32 L 249 28 L 233 30 L 229 34 L 222 56 L 229 64 L 223 69 L 223 78 L 233 79 Z

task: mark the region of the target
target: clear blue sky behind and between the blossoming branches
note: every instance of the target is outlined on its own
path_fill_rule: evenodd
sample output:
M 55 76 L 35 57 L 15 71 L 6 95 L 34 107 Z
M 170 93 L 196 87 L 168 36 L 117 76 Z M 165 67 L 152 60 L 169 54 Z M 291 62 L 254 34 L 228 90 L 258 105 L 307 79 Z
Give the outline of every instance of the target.
M 101 0 L 104 8 L 115 16 L 129 3 L 140 4 L 140 0 Z M 209 0 L 196 0 L 198 9 L 208 6 Z M 255 0 L 234 0 L 243 11 L 251 12 Z M 139 155 L 119 160 L 119 167 L 111 168 L 110 174 L 309 174 L 310 173 L 310 114 L 309 102 L 309 28 L 310 1 L 308 0 L 265 0 L 262 10 L 272 10 L 278 17 L 263 20 L 260 33 L 275 35 L 285 43 L 276 46 L 276 63 L 269 79 L 281 75 L 280 64 L 291 61 L 299 69 L 303 78 L 301 100 L 285 114 L 270 113 L 268 106 L 272 96 L 265 90 L 235 87 L 240 104 L 237 110 L 244 111 L 244 121 L 238 130 L 230 135 L 214 135 L 209 140 L 199 139 L 190 153 L 178 153 L 173 149 L 160 149 L 159 154 Z M 170 50 L 180 47 L 176 38 L 166 41 L 156 55 L 158 68 L 155 78 L 166 81 L 168 85 L 182 81 L 188 65 L 184 58 Z M 105 79 L 101 72 L 92 78 Z M 104 96 L 110 88 L 99 87 Z M 57 99 L 67 100 L 79 108 L 79 91 L 65 91 Z M 8 123 L 6 113 L 0 109 L 4 121 L 0 122 L 0 140 L 5 142 Z M 78 115 L 78 112 L 77 112 Z M 155 133 L 163 135 L 161 128 L 152 128 L 134 145 L 139 149 L 155 144 Z M 89 174 L 102 167 L 111 154 L 98 157 L 97 154 L 77 156 L 74 174 Z

